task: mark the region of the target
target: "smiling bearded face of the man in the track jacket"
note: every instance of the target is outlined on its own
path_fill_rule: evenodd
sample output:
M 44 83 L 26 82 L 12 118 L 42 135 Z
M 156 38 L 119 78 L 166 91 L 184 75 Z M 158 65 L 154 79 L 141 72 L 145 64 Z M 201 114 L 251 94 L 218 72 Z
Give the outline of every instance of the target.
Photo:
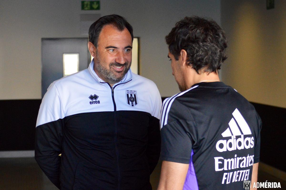
M 94 70 L 98 76 L 113 85 L 125 76 L 131 66 L 132 38 L 125 28 L 118 31 L 106 25 L 98 37 L 98 47 L 94 57 Z

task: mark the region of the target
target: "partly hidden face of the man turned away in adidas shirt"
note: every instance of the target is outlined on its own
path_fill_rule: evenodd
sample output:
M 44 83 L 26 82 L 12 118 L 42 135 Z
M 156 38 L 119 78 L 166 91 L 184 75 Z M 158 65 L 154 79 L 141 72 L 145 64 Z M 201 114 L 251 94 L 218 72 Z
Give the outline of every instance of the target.
M 179 86 L 179 90 L 181 92 L 187 90 L 184 84 L 184 78 L 182 76 L 183 73 L 180 68 L 180 61 L 179 60 L 177 61 L 175 57 L 173 56 L 173 54 L 170 53 L 170 51 L 168 54 L 168 58 L 171 59 L 171 67 L 172 67 L 172 72 L 173 72 L 172 74 L 175 76 L 175 80 Z

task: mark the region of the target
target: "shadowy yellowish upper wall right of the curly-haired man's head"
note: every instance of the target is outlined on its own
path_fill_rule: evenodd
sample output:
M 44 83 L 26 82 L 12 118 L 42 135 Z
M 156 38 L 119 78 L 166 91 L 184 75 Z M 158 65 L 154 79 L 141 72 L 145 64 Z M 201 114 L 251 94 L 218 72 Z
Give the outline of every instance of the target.
M 223 80 L 249 101 L 286 108 L 286 1 L 221 1 L 228 39 Z

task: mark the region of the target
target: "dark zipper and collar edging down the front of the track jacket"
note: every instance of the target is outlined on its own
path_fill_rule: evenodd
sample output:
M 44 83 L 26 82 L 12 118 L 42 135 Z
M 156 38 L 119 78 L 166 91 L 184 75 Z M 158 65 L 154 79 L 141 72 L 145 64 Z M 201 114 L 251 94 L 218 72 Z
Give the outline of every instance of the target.
M 132 80 L 132 79 L 131 79 Z M 129 81 L 131 81 L 129 80 Z M 129 82 L 127 81 L 127 82 Z M 127 82 L 124 83 L 120 83 L 120 84 L 125 84 Z M 100 83 L 107 83 L 107 82 L 100 82 Z M 112 95 L 112 101 L 113 101 L 113 106 L 114 106 L 114 125 L 115 125 L 115 132 L 114 132 L 114 142 L 115 142 L 115 150 L 116 150 L 116 158 L 117 158 L 117 170 L 118 170 L 118 190 L 120 190 L 120 170 L 119 170 L 119 151 L 118 151 L 118 147 L 117 147 L 117 120 L 116 120 L 116 104 L 115 104 L 115 100 L 114 100 L 114 88 L 120 84 L 116 84 L 114 87 L 111 87 L 109 83 L 107 83 L 108 86 L 111 89 L 111 95 Z

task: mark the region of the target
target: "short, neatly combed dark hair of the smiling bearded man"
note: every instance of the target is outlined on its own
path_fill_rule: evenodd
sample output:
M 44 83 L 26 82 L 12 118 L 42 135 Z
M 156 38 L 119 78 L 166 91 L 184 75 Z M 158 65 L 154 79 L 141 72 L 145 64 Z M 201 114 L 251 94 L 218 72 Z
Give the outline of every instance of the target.
M 123 31 L 125 28 L 128 29 L 131 34 L 132 42 L 133 42 L 133 28 L 126 21 L 126 19 L 119 15 L 106 15 L 100 17 L 97 21 L 95 21 L 88 30 L 88 41 L 90 41 L 95 47 L 97 47 L 98 37 L 105 25 L 113 25 L 119 31 Z

